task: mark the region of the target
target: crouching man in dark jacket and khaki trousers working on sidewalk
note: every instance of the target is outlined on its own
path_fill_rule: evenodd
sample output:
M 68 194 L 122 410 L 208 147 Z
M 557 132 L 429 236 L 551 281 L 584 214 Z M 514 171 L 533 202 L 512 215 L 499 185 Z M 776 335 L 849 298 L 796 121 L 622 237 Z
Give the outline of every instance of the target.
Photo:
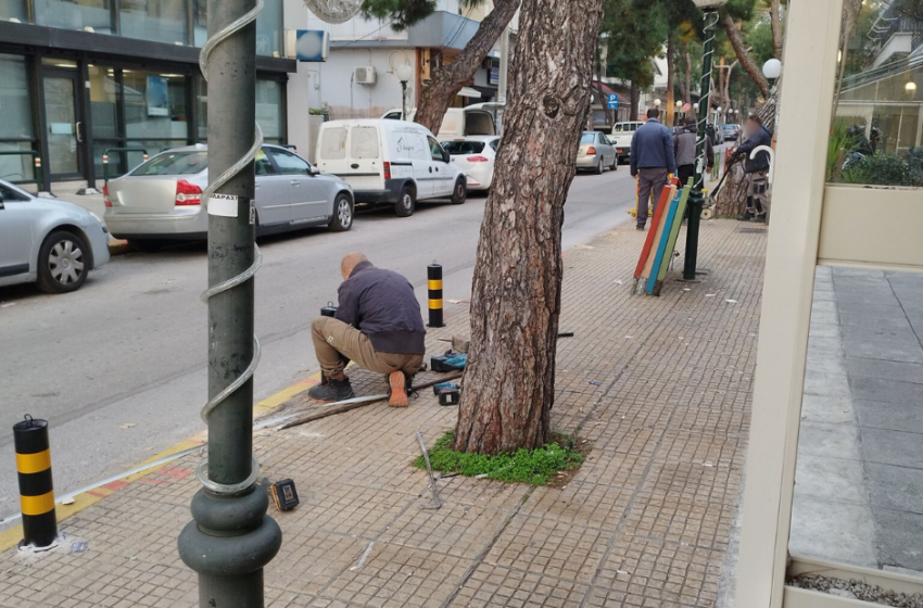
M 407 379 L 423 365 L 426 329 L 410 283 L 391 270 L 376 268 L 362 253 L 340 264 L 343 281 L 334 317 L 311 324 L 314 352 L 325 381 L 308 391 L 318 401 L 343 401 L 353 388 L 343 369 L 350 360 L 387 373 L 389 405 L 407 407 Z

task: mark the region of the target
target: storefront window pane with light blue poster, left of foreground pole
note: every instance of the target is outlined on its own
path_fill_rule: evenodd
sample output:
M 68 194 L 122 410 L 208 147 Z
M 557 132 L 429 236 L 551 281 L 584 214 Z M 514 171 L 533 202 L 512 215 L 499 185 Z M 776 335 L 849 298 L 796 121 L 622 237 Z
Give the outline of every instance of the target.
M 124 69 L 123 83 L 127 138 L 186 140 L 189 137 L 186 76 Z

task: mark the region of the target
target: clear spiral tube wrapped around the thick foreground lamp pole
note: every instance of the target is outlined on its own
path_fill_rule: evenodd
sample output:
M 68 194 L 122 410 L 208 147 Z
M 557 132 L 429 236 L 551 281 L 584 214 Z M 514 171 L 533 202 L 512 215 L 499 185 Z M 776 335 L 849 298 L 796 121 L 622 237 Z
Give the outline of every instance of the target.
M 227 26 L 225 26 L 220 31 L 215 34 L 213 37 L 208 39 L 205 45 L 202 46 L 202 50 L 199 53 L 199 68 L 202 71 L 202 77 L 205 80 L 208 80 L 208 56 L 212 54 L 212 51 L 220 45 L 223 41 L 227 40 L 241 29 L 243 29 L 250 23 L 256 21 L 256 17 L 263 11 L 263 0 L 256 0 L 256 5 L 248 12 L 246 14 L 240 16 L 235 20 Z M 202 193 L 202 199 L 205 201 L 205 204 L 208 204 L 208 201 L 217 190 L 219 190 L 223 186 L 225 186 L 228 181 L 231 180 L 237 174 L 243 170 L 246 165 L 256 160 L 256 154 L 260 152 L 261 148 L 263 148 L 263 130 L 260 128 L 258 124 L 254 125 L 254 137 L 253 137 L 253 145 L 246 152 L 245 155 L 241 156 L 233 165 L 228 167 L 224 173 L 222 173 L 214 181 L 212 181 L 205 191 Z M 223 293 L 229 289 L 232 289 L 241 283 L 244 283 L 253 278 L 256 274 L 256 270 L 260 269 L 260 266 L 263 265 L 263 253 L 260 251 L 260 248 L 256 246 L 256 243 L 253 243 L 253 253 L 254 259 L 253 264 L 236 277 L 231 277 L 230 279 L 223 281 L 216 286 L 210 287 L 202 295 L 200 296 L 202 302 L 208 302 L 208 299 L 214 297 L 215 295 Z M 202 420 L 204 420 L 205 425 L 208 423 L 208 416 L 212 410 L 215 409 L 218 405 L 220 405 L 226 398 L 228 398 L 231 394 L 237 392 L 243 384 L 246 383 L 248 380 L 253 378 L 253 372 L 256 370 L 256 366 L 260 365 L 260 356 L 262 349 L 260 346 L 260 340 L 256 335 L 253 335 L 253 358 L 250 360 L 250 365 L 246 366 L 246 369 L 243 370 L 243 373 L 237 377 L 237 379 L 228 384 L 225 390 L 220 393 L 208 400 L 208 403 L 202 408 L 200 416 Z M 260 461 L 256 459 L 256 456 L 253 456 L 253 464 L 251 465 L 250 474 L 243 481 L 239 483 L 218 483 L 216 481 L 212 481 L 208 479 L 208 461 L 204 461 L 199 465 L 197 472 L 197 477 L 199 478 L 199 482 L 206 489 L 216 494 L 238 494 L 243 492 L 256 481 L 256 477 L 260 471 Z

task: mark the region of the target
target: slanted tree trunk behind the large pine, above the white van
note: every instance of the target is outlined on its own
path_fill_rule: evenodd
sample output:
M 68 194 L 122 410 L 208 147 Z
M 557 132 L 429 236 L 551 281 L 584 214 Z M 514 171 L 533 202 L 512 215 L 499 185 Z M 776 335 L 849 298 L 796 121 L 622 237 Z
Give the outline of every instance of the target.
M 493 11 L 484 17 L 475 37 L 465 45 L 455 61 L 432 69 L 432 80 L 420 93 L 417 123 L 439 135 L 445 111 L 483 63 L 518 8 L 519 0 L 494 0 Z

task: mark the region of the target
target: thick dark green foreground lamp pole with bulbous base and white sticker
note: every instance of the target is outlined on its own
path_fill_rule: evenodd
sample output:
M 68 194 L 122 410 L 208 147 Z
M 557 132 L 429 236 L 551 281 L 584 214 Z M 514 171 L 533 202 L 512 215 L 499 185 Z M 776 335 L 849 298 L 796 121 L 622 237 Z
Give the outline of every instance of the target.
M 253 334 L 256 15 L 262 0 L 208 0 L 208 42 L 200 63 L 208 83 L 208 460 L 192 498 L 193 521 L 179 535 L 179 555 L 199 573 L 200 608 L 262 608 L 263 567 L 282 533 L 266 515 L 254 482 Z M 255 130 L 255 132 L 254 132 Z

